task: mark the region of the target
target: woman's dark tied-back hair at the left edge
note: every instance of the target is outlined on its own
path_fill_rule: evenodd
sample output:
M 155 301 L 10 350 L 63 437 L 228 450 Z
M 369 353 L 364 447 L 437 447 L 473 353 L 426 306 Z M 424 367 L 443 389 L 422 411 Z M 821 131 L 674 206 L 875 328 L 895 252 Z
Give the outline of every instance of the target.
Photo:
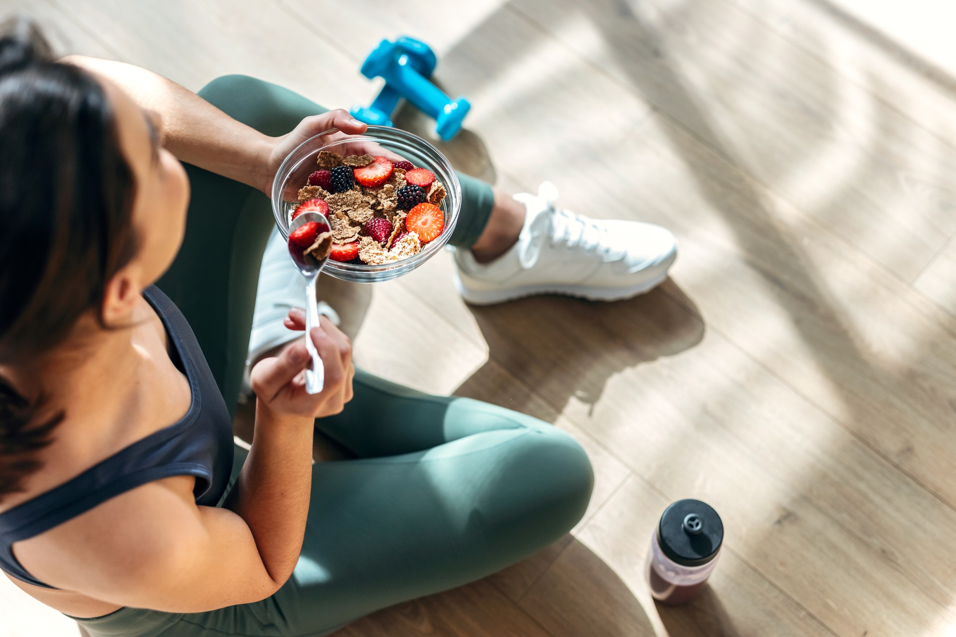
M 0 364 L 54 349 L 91 309 L 102 324 L 106 283 L 137 250 L 134 185 L 98 81 L 55 61 L 33 22 L 0 26 Z M 30 393 L 0 376 L 0 499 L 64 417 Z

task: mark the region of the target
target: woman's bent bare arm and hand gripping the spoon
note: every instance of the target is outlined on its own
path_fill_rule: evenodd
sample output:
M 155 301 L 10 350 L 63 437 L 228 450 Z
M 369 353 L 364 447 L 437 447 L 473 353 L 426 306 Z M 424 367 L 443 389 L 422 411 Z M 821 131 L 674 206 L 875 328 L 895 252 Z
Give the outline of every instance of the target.
M 327 320 L 313 338 L 325 364 L 322 393 L 305 393 L 302 343 L 253 369 L 252 451 L 224 508 L 196 506 L 192 478 L 158 480 L 19 542 L 20 562 L 58 588 L 167 612 L 272 595 L 292 575 L 302 547 L 314 418 L 337 414 L 352 397 L 348 339 Z

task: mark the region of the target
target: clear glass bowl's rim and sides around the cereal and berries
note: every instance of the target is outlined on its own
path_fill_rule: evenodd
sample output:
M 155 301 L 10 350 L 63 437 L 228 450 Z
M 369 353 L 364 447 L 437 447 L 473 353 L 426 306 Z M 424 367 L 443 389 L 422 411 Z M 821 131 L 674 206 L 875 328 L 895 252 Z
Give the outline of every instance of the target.
M 272 180 L 272 214 L 279 232 L 287 241 L 292 211 L 298 205 L 299 188 L 308 185 L 309 175 L 318 170 L 315 159 L 319 151 L 332 151 L 342 156 L 384 155 L 395 161 L 407 159 L 416 167 L 435 173 L 435 179 L 445 185 L 447 193 L 440 205 L 445 214 L 445 229 L 438 238 L 425 244 L 421 252 L 384 265 L 344 264 L 330 259 L 322 268 L 323 274 L 355 283 L 388 281 L 424 264 L 448 242 L 462 207 L 462 186 L 454 168 L 423 138 L 385 126 L 369 126 L 361 135 L 347 135 L 337 129 L 320 133 L 299 144 L 282 162 Z

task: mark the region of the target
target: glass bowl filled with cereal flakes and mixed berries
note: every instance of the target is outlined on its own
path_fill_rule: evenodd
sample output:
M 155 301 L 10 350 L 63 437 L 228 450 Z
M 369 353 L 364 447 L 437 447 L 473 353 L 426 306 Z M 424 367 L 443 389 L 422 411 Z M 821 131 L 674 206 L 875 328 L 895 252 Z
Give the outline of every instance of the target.
M 283 237 L 289 240 L 297 215 L 325 215 L 332 245 L 323 271 L 356 283 L 394 279 L 437 254 L 461 202 L 458 176 L 438 149 L 383 126 L 309 138 L 272 180 L 272 214 Z

